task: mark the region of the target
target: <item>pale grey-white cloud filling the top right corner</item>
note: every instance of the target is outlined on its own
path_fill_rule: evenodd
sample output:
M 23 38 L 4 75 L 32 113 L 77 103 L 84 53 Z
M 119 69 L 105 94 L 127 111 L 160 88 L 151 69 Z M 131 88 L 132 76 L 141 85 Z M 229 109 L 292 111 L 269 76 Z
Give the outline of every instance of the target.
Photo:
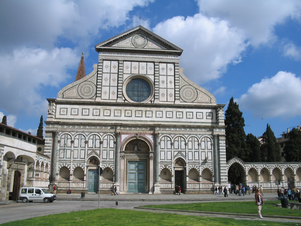
M 231 27 L 244 30 L 254 46 L 276 38 L 274 26 L 287 18 L 299 19 L 301 1 L 295 0 L 198 0 L 200 12 L 227 20 Z

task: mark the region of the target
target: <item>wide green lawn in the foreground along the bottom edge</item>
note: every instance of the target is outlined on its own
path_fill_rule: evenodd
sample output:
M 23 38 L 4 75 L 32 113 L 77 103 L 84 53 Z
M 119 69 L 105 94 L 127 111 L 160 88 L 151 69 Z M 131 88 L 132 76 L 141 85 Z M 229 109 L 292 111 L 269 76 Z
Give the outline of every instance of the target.
M 254 205 L 255 206 L 255 205 Z M 252 222 L 252 223 L 251 223 Z M 69 212 L 48 215 L 43 217 L 35 217 L 26 220 L 12 221 L 1 224 L 2 226 L 101 226 L 101 225 L 147 225 L 147 226 L 175 226 L 175 225 L 206 225 L 206 226 L 241 226 L 241 225 L 269 225 L 269 226 L 285 226 L 297 225 L 296 223 L 270 222 L 270 221 L 249 221 L 234 220 L 231 218 L 210 218 L 203 216 L 187 216 L 167 213 L 151 213 L 125 209 L 94 209 L 78 212 Z

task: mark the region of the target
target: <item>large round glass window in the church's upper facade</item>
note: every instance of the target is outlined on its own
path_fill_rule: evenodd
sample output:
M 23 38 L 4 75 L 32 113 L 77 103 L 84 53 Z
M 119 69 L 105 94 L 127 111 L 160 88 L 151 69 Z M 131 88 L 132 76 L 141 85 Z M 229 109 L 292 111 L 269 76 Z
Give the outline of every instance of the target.
M 134 102 L 144 102 L 151 96 L 151 86 L 144 79 L 132 79 L 126 85 L 126 95 Z

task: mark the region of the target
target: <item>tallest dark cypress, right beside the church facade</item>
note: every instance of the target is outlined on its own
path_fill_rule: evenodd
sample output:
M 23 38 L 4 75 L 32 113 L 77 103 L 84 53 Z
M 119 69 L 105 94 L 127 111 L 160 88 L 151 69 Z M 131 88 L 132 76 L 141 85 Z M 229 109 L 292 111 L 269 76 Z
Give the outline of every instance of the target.
M 243 113 L 232 97 L 225 112 L 227 161 L 234 157 L 245 160 L 246 133 L 244 132 L 245 124 L 242 115 Z

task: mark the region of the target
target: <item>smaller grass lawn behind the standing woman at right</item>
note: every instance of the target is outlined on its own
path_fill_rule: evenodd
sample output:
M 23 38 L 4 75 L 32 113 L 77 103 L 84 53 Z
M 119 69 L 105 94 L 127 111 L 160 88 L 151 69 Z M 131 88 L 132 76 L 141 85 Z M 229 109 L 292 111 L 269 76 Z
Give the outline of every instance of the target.
M 281 202 L 276 201 L 265 201 L 262 206 L 262 215 L 277 215 L 277 216 L 295 216 L 301 217 L 301 211 L 294 207 L 290 208 L 280 208 L 275 207 L 275 204 L 280 204 Z M 208 212 L 222 212 L 222 213 L 244 213 L 244 214 L 256 214 L 257 206 L 254 201 L 245 202 L 199 202 L 199 203 L 183 203 L 183 204 L 168 204 L 168 205 L 150 205 L 143 206 L 150 208 L 160 208 L 160 209 L 179 209 L 179 210 L 191 210 L 191 211 L 208 211 Z

